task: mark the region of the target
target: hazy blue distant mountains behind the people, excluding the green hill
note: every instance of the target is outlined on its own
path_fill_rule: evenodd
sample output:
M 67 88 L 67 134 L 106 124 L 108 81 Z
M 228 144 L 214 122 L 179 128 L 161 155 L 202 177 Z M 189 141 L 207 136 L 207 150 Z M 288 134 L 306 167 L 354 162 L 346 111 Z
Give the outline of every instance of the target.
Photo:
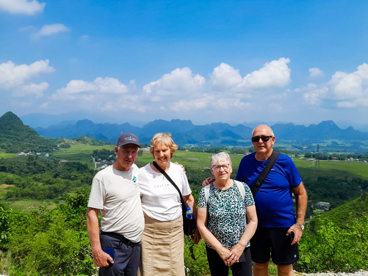
M 326 140 L 366 141 L 367 132 L 354 130 L 353 127 L 339 128 L 333 121 L 322 121 L 319 124 L 304 125 L 275 124 L 271 126 L 278 141 L 293 141 L 294 144 L 321 143 Z M 76 123 L 52 125 L 47 128 L 35 128 L 38 134 L 46 138 L 75 138 L 88 135 L 104 142 L 115 143 L 123 132 L 132 132 L 140 142 L 151 141 L 158 132 L 170 132 L 174 141 L 180 146 L 251 146 L 252 128 L 239 124 L 231 126 L 227 123 L 194 125 L 190 120 L 154 120 L 143 127 L 124 124 L 95 124 L 90 120 L 79 120 Z

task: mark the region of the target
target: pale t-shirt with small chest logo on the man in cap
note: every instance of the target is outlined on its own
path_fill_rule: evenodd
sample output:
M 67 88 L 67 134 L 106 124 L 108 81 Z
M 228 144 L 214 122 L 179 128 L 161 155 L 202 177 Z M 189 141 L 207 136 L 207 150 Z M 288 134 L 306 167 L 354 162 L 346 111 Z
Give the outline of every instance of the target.
M 138 167 L 119 171 L 113 166 L 96 173 L 92 180 L 88 207 L 101 210 L 101 230 L 115 232 L 137 243 L 144 229 Z

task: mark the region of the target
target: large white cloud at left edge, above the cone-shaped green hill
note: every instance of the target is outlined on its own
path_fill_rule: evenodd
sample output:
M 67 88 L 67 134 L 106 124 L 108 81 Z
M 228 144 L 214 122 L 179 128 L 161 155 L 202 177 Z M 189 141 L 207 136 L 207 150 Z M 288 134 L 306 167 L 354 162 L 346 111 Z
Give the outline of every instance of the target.
M 49 66 L 49 60 L 39 60 L 30 65 L 21 64 L 16 66 L 12 61 L 0 64 L 0 84 L 5 88 L 15 87 L 40 73 L 54 72 Z

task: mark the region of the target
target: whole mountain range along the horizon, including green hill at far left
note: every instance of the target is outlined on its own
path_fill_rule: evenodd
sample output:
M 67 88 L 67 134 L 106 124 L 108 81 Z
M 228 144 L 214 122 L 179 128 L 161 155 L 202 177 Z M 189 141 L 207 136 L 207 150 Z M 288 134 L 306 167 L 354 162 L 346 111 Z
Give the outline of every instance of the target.
M 226 147 L 252 145 L 250 142 L 252 128 L 243 124 L 232 126 L 221 122 L 194 125 L 190 120 L 154 120 L 142 127 L 137 127 L 130 123 L 96 124 L 91 120 L 85 119 L 77 122 L 63 121 L 47 128 L 37 127 L 32 130 L 24 125 L 14 113 L 7 112 L 0 118 L 0 127 L 0 140 L 2 139 L 3 142 L 6 140 L 7 145 L 10 145 L 12 142 L 19 144 L 22 141 L 28 141 L 33 138 L 36 139 L 37 144 L 42 144 L 49 140 L 44 140 L 43 137 L 71 139 L 80 136 L 89 136 L 114 144 L 117 137 L 124 132 L 131 132 L 137 135 L 141 144 L 149 144 L 153 135 L 158 132 L 170 132 L 179 146 Z M 354 130 L 353 127 L 341 129 L 333 121 L 322 121 L 319 124 L 311 124 L 308 127 L 291 123 L 279 123 L 271 125 L 271 127 L 275 132 L 277 146 L 281 145 L 281 148 L 309 151 L 308 148 L 312 145 L 324 143 L 326 147 L 330 145 L 328 151 L 368 151 L 367 132 Z M 12 135 L 9 135 L 8 132 L 11 132 Z M 28 137 L 24 137 L 23 133 L 27 133 Z M 38 134 L 43 137 L 39 137 Z M 10 136 L 14 137 L 14 139 L 10 139 Z M 287 145 L 289 144 L 292 146 L 288 147 Z

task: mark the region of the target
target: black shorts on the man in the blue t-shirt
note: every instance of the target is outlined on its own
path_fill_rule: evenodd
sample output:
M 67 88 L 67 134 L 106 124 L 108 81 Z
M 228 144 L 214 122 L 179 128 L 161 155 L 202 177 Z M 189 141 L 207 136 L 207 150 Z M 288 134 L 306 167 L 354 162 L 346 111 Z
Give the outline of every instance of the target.
M 291 265 L 299 259 L 298 244 L 291 244 L 286 236 L 289 227 L 257 227 L 251 238 L 252 261 L 266 263 L 270 257 L 276 265 Z

